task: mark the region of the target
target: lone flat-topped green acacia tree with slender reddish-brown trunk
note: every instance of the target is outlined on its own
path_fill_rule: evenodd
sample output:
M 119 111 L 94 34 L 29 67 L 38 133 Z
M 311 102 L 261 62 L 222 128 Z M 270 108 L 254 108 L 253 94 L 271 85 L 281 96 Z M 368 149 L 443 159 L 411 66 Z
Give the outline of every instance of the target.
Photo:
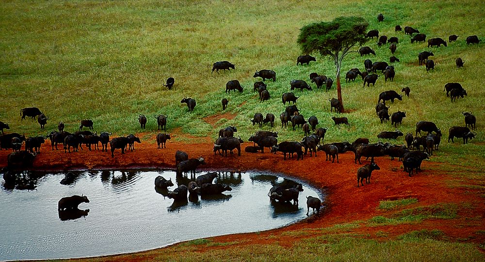
M 296 41 L 303 53 L 319 52 L 321 56 L 333 58 L 337 68 L 337 96 L 340 101 L 340 112 L 343 112 L 342 90 L 340 86 L 340 66 L 342 60 L 354 46 L 363 45 L 367 23 L 364 18 L 356 16 L 340 16 L 331 22 L 320 22 L 306 25 L 300 29 Z

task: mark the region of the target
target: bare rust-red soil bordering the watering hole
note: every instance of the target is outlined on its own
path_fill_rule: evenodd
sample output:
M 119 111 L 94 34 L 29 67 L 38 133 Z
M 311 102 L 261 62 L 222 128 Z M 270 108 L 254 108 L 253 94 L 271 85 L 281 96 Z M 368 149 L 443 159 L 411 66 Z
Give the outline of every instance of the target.
M 185 135 L 184 135 L 185 136 Z M 200 140 L 200 139 L 199 139 Z M 206 139 L 208 141 L 210 139 Z M 48 142 L 49 143 L 49 142 Z M 326 194 L 323 202 L 323 210 L 320 216 L 310 216 L 300 223 L 285 228 L 265 231 L 259 234 L 233 234 L 212 238 L 214 242 L 240 242 L 240 246 L 273 243 L 269 235 L 278 234 L 278 243 L 281 246 L 291 246 L 293 236 L 286 236 L 282 232 L 299 229 L 312 229 L 330 227 L 335 224 L 349 223 L 356 220 L 365 221 L 374 216 L 390 216 L 392 212 L 377 209 L 381 200 L 397 200 L 401 198 L 417 198 L 419 203 L 413 206 L 431 205 L 436 203 L 453 202 L 458 204 L 458 217 L 455 219 L 427 219 L 420 223 L 411 223 L 398 226 L 367 227 L 361 226 L 351 232 L 370 234 L 372 238 L 388 239 L 405 232 L 420 229 L 438 229 L 447 237 L 460 241 L 472 241 L 484 243 L 484 234 L 476 234 L 476 231 L 485 229 L 485 203 L 477 196 L 478 190 L 449 186 L 447 182 L 453 180 L 447 173 L 434 171 L 431 161 L 424 161 L 422 171 L 418 175 L 408 177 L 401 168 L 402 163 L 391 161 L 388 157 L 376 158 L 376 163 L 381 170 L 372 173 L 371 184 L 357 187 L 356 170 L 362 165 L 354 164 L 352 152 L 340 154 L 340 163 L 325 161 L 324 153 L 318 152 L 318 157 L 305 156 L 303 161 L 295 158 L 283 161 L 281 153 L 249 154 L 242 152 L 222 157 L 212 152 L 213 143 L 184 144 L 180 142 L 167 142 L 168 148 L 157 149 L 153 140 L 135 144 L 136 150 L 121 154 L 115 151 L 112 158 L 111 152 L 102 153 L 99 150 L 89 152 L 84 149 L 75 153 L 64 153 L 64 150 L 51 151 L 47 144 L 43 146 L 37 155 L 33 168 L 39 170 L 69 170 L 69 169 L 107 169 L 107 168 L 168 168 L 174 169 L 175 152 L 186 151 L 189 157 L 203 156 L 206 165 L 201 170 L 269 170 L 284 173 L 288 176 L 308 182 Z M 245 147 L 245 143 L 242 146 Z M 60 147 L 62 148 L 62 146 Z M 0 167 L 6 166 L 7 154 L 10 151 L 0 151 Z M 296 156 L 296 155 L 295 155 Z M 369 163 L 363 158 L 363 164 Z M 305 192 L 303 192 L 305 193 Z M 483 193 L 483 192 L 482 192 Z M 462 205 L 467 203 L 467 205 Z M 471 204 L 471 205 L 469 205 Z M 305 203 L 300 203 L 306 208 Z M 310 211 L 311 212 L 311 211 Z M 384 231 L 388 235 L 376 235 L 377 231 Z M 322 232 L 307 231 L 308 236 L 321 234 Z M 466 240 L 465 240 L 466 239 Z M 213 247 L 213 248 L 231 248 Z M 201 250 L 202 251 L 202 250 Z M 142 256 L 143 257 L 143 256 Z M 149 260 L 149 257 L 145 257 Z M 126 257 L 124 258 L 126 259 Z M 124 260 L 113 257 L 113 260 Z

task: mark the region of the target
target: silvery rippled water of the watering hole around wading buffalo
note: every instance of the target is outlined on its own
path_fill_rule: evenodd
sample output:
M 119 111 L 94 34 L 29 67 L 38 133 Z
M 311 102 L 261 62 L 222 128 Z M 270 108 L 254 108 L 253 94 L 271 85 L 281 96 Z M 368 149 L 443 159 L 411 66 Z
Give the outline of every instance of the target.
M 17 175 L 17 185 L 0 180 L 0 261 L 136 252 L 195 238 L 278 228 L 305 218 L 306 196 L 318 196 L 304 185 L 299 206 L 270 204 L 269 189 L 284 178 L 259 171 L 217 172 L 213 183 L 229 185 L 232 191 L 178 202 L 154 186 L 159 175 L 172 179 L 175 185 L 169 190 L 189 183 L 174 171 L 75 174 L 71 185 L 59 183 L 65 173 L 25 172 Z M 25 189 L 32 186 L 35 190 Z M 81 203 L 77 214 L 58 213 L 61 198 L 82 194 L 90 202 Z

